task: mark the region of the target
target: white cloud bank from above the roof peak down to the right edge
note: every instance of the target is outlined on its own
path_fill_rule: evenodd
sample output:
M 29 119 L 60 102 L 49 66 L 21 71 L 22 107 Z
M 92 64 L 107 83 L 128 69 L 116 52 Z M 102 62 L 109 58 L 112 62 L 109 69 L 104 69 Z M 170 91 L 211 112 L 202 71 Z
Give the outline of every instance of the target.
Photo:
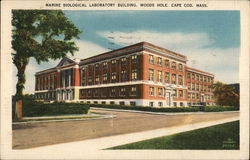
M 188 66 L 213 73 L 216 80 L 239 81 L 239 48 L 212 47 L 215 41 L 206 33 L 113 31 L 97 34 L 121 46 L 147 41 L 187 56 Z

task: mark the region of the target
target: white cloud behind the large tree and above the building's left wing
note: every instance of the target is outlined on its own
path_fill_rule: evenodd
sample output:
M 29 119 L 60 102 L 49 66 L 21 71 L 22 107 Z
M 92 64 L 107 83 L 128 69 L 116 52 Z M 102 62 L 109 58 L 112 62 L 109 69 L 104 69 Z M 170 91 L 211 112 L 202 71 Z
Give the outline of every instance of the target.
M 74 59 L 74 58 L 87 58 L 90 56 L 94 56 L 97 54 L 101 54 L 103 52 L 108 51 L 108 49 L 103 48 L 97 44 L 94 44 L 89 41 L 83 41 L 83 40 L 78 40 L 76 41 L 77 46 L 79 47 L 79 51 L 75 53 L 74 56 L 69 57 Z M 41 70 L 45 70 L 48 68 L 55 67 L 60 60 L 50 60 L 49 62 L 43 62 L 40 65 L 36 63 L 34 58 L 30 59 L 30 62 L 26 68 L 26 83 L 25 83 L 25 90 L 24 93 L 34 93 L 35 90 L 35 73 Z M 17 83 L 17 70 L 16 67 L 13 65 L 13 70 L 12 70 L 12 77 L 13 77 L 13 90 L 12 93 L 15 94 L 16 92 L 16 83 Z

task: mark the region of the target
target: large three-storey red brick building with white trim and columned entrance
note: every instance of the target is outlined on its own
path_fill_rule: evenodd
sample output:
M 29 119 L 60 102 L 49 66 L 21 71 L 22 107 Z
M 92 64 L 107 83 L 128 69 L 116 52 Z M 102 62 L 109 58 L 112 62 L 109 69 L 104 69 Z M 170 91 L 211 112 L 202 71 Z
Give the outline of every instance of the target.
M 214 75 L 186 62 L 186 56 L 147 42 L 82 60 L 65 57 L 56 67 L 35 74 L 35 96 L 154 107 L 214 104 Z

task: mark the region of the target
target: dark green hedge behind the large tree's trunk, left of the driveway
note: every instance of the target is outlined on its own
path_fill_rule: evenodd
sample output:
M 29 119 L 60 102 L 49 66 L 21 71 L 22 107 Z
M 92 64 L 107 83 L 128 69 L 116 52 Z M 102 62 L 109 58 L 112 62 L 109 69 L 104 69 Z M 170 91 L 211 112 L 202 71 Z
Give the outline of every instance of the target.
M 35 101 L 31 96 L 24 96 L 23 100 L 23 117 L 34 116 L 56 116 L 69 114 L 87 114 L 89 111 L 88 104 L 81 103 L 48 103 Z M 15 114 L 15 98 L 12 104 L 12 118 Z

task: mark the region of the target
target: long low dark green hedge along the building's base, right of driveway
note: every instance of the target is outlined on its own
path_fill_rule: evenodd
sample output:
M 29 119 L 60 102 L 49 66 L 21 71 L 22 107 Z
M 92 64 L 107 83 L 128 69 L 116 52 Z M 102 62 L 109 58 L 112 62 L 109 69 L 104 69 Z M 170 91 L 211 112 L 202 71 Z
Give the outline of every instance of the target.
M 221 112 L 221 111 L 237 111 L 239 107 L 235 106 L 206 106 L 206 107 L 169 107 L 169 108 L 154 108 L 145 106 L 126 106 L 126 105 L 104 105 L 104 104 L 90 104 L 91 107 L 110 108 L 110 109 L 124 109 L 124 110 L 138 110 L 148 112 Z

